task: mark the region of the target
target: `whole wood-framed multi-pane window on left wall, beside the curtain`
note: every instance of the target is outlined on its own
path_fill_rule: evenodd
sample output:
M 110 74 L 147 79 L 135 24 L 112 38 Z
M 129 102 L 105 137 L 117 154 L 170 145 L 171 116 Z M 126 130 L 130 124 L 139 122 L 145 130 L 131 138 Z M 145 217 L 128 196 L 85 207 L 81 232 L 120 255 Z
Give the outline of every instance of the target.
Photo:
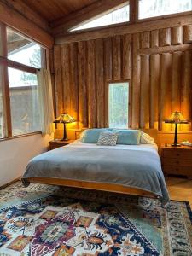
M 42 48 L 4 25 L 0 25 L 1 38 L 0 137 L 40 131 L 36 73 L 42 63 Z

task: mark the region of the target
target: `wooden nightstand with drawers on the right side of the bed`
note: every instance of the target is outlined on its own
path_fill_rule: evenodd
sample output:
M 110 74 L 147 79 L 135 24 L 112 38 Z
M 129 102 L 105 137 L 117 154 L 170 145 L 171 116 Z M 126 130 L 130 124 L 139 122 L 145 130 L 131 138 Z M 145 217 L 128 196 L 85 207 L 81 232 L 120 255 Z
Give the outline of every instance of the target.
M 161 145 L 161 162 L 166 174 L 184 175 L 192 178 L 192 148 Z

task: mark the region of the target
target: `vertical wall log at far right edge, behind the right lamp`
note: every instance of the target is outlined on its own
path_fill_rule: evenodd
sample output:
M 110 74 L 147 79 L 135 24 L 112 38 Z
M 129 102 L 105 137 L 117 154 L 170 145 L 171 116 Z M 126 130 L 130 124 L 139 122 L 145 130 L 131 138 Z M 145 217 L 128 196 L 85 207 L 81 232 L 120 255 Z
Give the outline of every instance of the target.
M 191 120 L 191 106 L 192 106 L 192 51 L 183 53 L 183 80 L 182 80 L 182 93 L 181 93 L 181 112 L 184 119 Z M 184 127 L 183 127 L 184 128 Z

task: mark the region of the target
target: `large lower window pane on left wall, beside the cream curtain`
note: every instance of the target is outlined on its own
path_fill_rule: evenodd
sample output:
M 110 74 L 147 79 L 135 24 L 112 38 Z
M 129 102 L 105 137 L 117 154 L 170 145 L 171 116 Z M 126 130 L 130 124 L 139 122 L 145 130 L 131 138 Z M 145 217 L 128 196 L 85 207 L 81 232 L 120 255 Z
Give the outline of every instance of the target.
M 37 75 L 9 68 L 12 134 L 40 131 Z

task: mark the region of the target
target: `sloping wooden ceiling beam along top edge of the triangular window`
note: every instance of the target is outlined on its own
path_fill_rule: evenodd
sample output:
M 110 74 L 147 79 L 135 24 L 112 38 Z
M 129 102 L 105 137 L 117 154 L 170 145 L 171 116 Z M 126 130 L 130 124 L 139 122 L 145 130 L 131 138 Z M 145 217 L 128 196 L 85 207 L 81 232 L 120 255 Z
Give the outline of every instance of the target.
M 77 10 L 70 15 L 67 15 L 59 20 L 55 20 L 51 26 L 54 35 L 61 35 L 66 33 L 71 27 L 80 25 L 86 20 L 92 20 L 98 15 L 116 9 L 119 6 L 124 6 L 129 3 L 127 0 L 99 0 L 92 3 L 83 9 Z

